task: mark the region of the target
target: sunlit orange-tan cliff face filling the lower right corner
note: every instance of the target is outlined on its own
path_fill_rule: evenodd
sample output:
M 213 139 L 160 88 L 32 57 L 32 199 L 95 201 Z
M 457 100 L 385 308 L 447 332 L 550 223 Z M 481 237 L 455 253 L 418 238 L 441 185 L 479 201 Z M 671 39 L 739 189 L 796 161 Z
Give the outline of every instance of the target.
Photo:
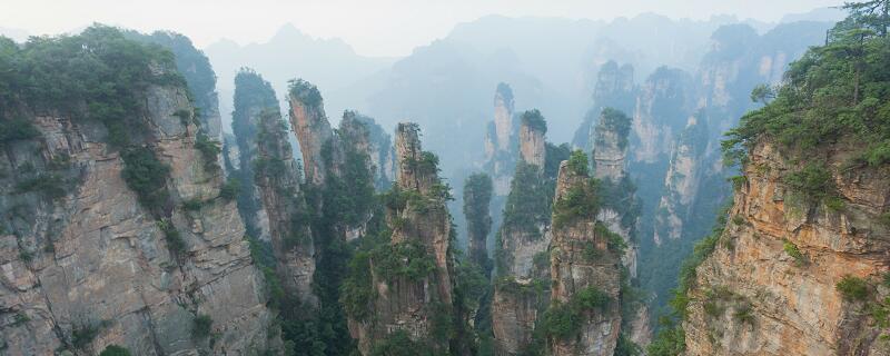
M 852 144 L 852 145 L 851 145 Z M 874 288 L 864 301 L 844 299 L 844 277 L 880 285 L 890 247 L 879 222 L 890 204 L 886 168 L 844 169 L 842 142 L 808 154 L 827 162 L 843 208 L 808 202 L 784 184 L 799 165 L 760 141 L 735 191 L 732 217 L 714 253 L 696 269 L 690 290 L 688 355 L 887 355 L 876 312 L 890 291 Z M 882 312 L 881 312 L 882 313 Z

